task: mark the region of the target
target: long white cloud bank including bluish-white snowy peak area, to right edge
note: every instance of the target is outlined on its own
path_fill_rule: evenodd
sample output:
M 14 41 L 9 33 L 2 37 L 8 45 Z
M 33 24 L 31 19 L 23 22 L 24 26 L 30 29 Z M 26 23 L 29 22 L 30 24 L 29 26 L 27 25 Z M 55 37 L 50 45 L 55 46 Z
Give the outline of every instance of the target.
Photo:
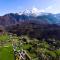
M 53 13 L 53 14 L 56 14 L 56 13 L 60 13 L 60 8 L 59 7 L 56 7 L 56 6 L 48 6 L 47 8 L 45 9 L 40 9 L 40 8 L 36 8 L 36 7 L 33 7 L 32 9 L 26 9 L 24 11 L 24 13 L 33 13 L 33 14 L 41 14 L 41 13 Z M 20 13 L 21 14 L 21 13 Z

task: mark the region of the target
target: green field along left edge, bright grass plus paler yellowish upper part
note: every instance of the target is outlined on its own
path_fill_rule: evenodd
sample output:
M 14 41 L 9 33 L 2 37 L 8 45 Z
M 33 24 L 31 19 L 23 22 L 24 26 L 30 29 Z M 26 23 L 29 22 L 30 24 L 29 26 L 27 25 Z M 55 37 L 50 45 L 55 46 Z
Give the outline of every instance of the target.
M 14 60 L 14 52 L 11 42 L 8 42 L 9 35 L 0 35 L 0 60 Z

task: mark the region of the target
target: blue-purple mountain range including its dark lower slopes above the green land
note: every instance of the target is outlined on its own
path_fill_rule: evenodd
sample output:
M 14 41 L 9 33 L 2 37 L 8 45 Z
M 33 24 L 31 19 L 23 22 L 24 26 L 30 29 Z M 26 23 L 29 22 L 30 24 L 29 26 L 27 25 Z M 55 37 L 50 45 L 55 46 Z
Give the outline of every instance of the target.
M 9 13 L 0 16 L 0 26 L 17 35 L 27 34 L 39 39 L 60 39 L 60 14 Z

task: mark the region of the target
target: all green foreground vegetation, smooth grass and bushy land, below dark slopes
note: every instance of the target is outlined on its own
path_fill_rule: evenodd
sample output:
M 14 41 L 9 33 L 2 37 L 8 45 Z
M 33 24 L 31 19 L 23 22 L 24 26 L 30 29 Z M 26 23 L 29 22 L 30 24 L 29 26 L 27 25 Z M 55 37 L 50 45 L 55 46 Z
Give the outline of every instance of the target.
M 60 60 L 60 49 L 56 49 L 54 45 L 28 36 L 10 37 L 8 34 L 0 36 L 0 60 L 14 60 L 12 42 L 16 51 L 25 50 L 31 60 Z

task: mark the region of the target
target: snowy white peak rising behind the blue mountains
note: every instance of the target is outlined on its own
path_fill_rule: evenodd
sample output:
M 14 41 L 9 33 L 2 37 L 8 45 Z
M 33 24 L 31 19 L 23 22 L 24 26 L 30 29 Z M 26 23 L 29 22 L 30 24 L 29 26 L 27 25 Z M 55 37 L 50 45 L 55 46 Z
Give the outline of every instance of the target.
M 25 15 L 33 15 L 33 16 L 38 16 L 38 15 L 42 15 L 45 14 L 44 10 L 40 10 L 38 8 L 32 8 L 32 9 L 26 9 L 23 12 L 19 12 L 20 15 L 25 14 Z

